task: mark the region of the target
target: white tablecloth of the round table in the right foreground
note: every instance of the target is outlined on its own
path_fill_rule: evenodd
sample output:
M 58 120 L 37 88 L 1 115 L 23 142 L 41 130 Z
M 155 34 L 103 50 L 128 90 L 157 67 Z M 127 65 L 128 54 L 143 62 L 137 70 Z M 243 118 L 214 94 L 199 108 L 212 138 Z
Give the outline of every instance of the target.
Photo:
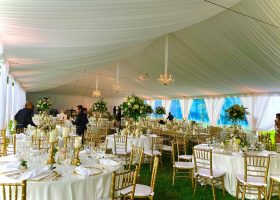
M 198 145 L 200 146 L 200 145 Z M 221 153 L 213 150 L 213 168 L 226 172 L 225 188 L 229 194 L 236 196 L 236 175 L 244 173 L 244 158 L 241 153 Z M 269 174 L 280 174 L 280 156 L 273 155 L 270 159 Z M 269 184 L 269 176 L 268 176 Z M 246 195 L 247 199 L 256 199 L 255 195 Z

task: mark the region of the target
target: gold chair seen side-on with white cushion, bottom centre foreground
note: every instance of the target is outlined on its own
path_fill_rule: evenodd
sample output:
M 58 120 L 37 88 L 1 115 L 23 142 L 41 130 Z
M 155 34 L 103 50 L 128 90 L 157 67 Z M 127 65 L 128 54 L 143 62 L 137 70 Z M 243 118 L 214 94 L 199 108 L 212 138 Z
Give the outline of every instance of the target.
M 155 157 L 150 186 L 143 185 L 143 184 L 136 184 L 135 192 L 134 192 L 134 197 L 136 199 L 147 199 L 147 198 L 149 198 L 150 200 L 154 199 L 154 189 L 156 184 L 158 163 L 159 163 L 159 158 Z M 131 189 L 127 189 L 127 190 L 131 191 Z M 127 191 L 123 191 L 122 193 L 124 194 L 125 192 Z

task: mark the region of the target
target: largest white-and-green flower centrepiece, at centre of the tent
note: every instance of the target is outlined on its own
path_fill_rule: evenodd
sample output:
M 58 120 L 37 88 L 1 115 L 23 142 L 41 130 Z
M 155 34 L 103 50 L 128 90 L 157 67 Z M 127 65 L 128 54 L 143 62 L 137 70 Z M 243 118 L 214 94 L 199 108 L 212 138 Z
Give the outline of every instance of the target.
M 128 96 L 121 107 L 123 110 L 123 116 L 132 118 L 135 121 L 138 121 L 141 117 L 147 116 L 147 104 L 135 94 Z

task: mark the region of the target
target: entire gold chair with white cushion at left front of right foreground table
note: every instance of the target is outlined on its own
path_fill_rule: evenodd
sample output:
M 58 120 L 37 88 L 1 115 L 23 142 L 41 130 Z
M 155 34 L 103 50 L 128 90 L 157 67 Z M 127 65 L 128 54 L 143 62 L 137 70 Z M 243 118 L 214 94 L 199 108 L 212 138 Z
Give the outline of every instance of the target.
M 212 149 L 194 148 L 193 156 L 195 165 L 193 195 L 195 196 L 197 183 L 206 185 L 210 182 L 212 186 L 213 199 L 216 200 L 215 186 L 222 186 L 225 198 L 224 176 L 226 173 L 220 169 L 213 169 Z

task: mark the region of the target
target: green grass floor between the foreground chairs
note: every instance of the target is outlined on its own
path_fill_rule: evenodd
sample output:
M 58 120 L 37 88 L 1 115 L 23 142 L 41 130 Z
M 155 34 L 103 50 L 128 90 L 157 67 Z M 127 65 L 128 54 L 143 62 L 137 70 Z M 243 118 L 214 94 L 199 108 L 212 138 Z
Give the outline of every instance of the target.
M 151 171 L 149 164 L 144 164 L 141 169 L 140 182 L 142 184 L 150 185 Z M 235 197 L 226 193 L 223 197 L 222 190 L 216 189 L 217 200 L 235 200 Z M 175 184 L 172 186 L 172 166 L 170 158 L 163 160 L 163 166 L 159 165 L 156 186 L 155 186 L 155 200 L 211 200 L 212 189 L 207 186 L 206 190 L 200 185 L 197 186 L 196 195 L 193 198 L 193 188 L 190 179 L 177 178 Z M 275 200 L 277 198 L 273 198 Z

